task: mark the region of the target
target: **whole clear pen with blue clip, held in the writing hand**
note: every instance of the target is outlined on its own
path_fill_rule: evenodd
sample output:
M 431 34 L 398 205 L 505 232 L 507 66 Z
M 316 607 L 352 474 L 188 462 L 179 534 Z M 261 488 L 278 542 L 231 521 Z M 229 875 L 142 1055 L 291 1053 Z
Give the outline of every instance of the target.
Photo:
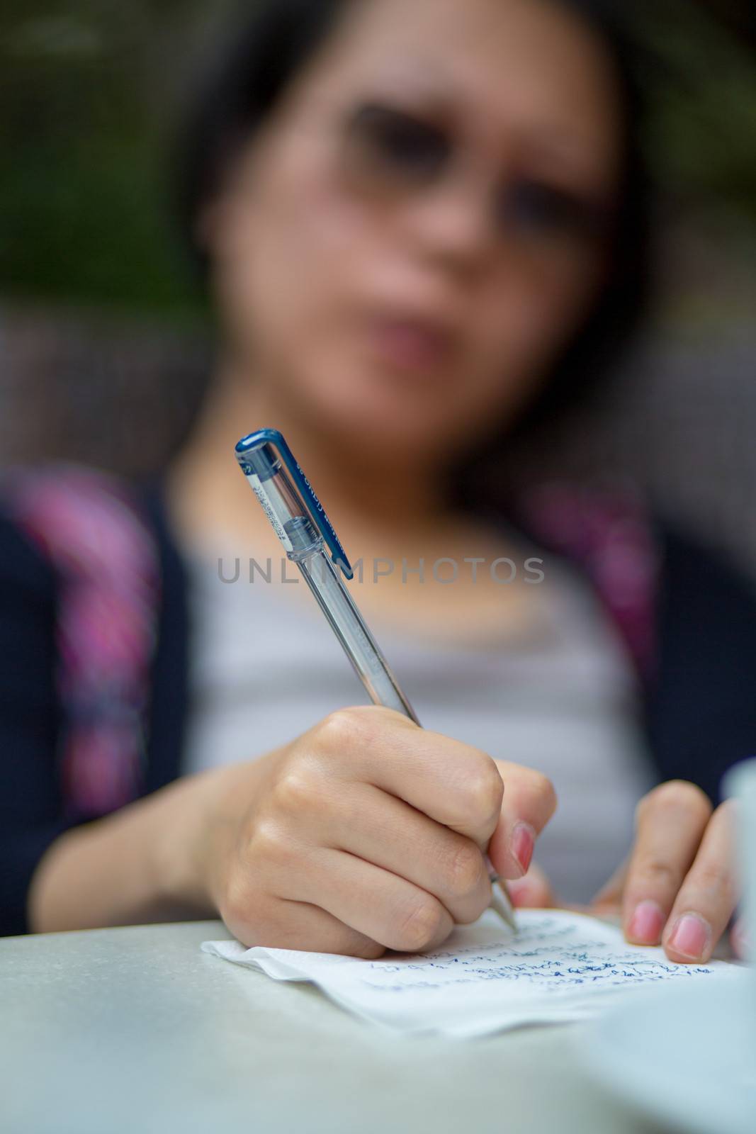
M 396 709 L 419 725 L 413 706 L 399 688 L 397 678 L 341 581 L 341 574 L 347 578 L 354 577 L 347 553 L 323 505 L 281 433 L 275 429 L 260 429 L 247 433 L 236 446 L 236 459 L 283 544 L 288 559 L 304 575 L 371 701 Z M 324 545 L 331 553 L 330 558 Z M 486 865 L 492 883 L 491 908 L 495 909 L 510 929 L 517 931 L 506 885 L 487 855 Z M 499 891 L 495 889 L 496 882 Z

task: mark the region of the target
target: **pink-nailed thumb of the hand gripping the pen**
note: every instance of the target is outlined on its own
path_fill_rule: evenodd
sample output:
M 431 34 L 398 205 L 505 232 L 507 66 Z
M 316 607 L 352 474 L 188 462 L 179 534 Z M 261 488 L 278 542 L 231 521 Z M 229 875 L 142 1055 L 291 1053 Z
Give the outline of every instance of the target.
M 495 761 L 504 784 L 496 828 L 489 843 L 489 856 L 506 879 L 523 878 L 533 857 L 535 840 L 557 807 L 550 779 L 533 768 Z

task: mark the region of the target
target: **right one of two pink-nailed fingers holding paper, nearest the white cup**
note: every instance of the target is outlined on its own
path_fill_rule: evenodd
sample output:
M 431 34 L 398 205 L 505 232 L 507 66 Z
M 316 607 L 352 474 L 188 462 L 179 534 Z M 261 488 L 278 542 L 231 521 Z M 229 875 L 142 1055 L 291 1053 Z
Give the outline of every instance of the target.
M 736 902 L 732 803 L 728 801 L 712 815 L 664 926 L 662 945 L 670 960 L 708 960 Z

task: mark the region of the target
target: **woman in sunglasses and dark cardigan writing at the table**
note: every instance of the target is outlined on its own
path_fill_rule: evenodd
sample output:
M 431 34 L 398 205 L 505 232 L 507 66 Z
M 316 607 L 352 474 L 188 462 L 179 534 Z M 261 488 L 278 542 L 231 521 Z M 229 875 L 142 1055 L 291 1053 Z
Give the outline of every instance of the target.
M 0 625 L 24 648 L 3 678 L 6 931 L 219 912 L 246 943 L 425 948 L 487 905 L 486 847 L 517 900 L 552 900 L 530 868 L 550 820 L 540 856 L 586 900 L 640 799 L 596 907 L 704 960 L 736 900 L 710 795 L 756 725 L 732 680 L 754 660 L 745 587 L 664 534 L 652 601 L 646 528 L 614 510 L 645 590 L 636 572 L 613 623 L 535 514 L 474 507 L 477 455 L 576 396 L 639 297 L 617 44 L 583 2 L 257 7 L 186 181 L 221 330 L 193 435 L 142 501 L 76 472 L 68 494 L 44 475 L 8 493 Z M 405 561 L 354 593 L 436 731 L 350 705 L 304 589 L 218 574 L 226 552 L 280 559 L 231 455 L 260 425 L 283 432 L 354 559 Z M 538 586 L 517 572 L 528 557 Z M 434 587 L 419 561 L 441 559 L 516 575 Z M 706 650 L 729 635 L 721 667 L 702 634 Z

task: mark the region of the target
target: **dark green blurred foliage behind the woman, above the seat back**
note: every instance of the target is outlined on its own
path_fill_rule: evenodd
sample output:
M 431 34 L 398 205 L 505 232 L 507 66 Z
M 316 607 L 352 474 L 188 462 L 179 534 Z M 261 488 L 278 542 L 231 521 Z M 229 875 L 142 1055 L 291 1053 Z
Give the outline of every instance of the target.
M 646 142 L 670 220 L 703 212 L 737 259 L 756 227 L 754 6 L 621 7 L 645 49 Z M 3 0 L 0 294 L 201 313 L 171 228 L 167 147 L 193 60 L 236 8 Z

